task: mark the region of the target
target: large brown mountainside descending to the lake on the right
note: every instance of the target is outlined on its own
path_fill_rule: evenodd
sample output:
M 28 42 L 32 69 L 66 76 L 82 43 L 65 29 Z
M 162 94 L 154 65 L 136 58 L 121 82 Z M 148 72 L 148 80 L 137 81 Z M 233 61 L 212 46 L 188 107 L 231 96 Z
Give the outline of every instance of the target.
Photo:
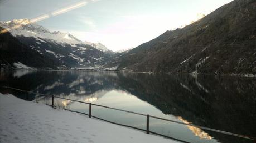
M 256 1 L 235 0 L 125 54 L 120 70 L 256 74 Z M 120 59 L 119 59 L 120 60 Z

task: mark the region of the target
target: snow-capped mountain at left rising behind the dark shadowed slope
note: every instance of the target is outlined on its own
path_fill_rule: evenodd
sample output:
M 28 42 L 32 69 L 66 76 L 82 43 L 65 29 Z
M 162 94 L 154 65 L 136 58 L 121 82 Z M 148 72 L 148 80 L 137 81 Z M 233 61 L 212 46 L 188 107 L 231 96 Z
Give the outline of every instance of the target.
M 21 27 L 16 29 L 13 28 L 17 27 L 17 25 L 21 25 Z M 101 67 L 101 65 L 105 64 L 105 62 L 107 62 L 113 55 L 109 54 L 106 50 L 107 48 L 105 48 L 104 51 L 99 50 L 98 47 L 102 46 L 100 44 L 86 44 L 69 33 L 62 33 L 59 31 L 50 32 L 50 30 L 41 25 L 30 23 L 28 19 L 0 22 L 0 26 L 11 29 L 9 32 L 12 36 L 18 39 L 22 44 L 26 45 L 26 52 L 36 52 L 45 59 L 51 59 L 56 63 L 55 65 L 58 65 L 58 68 Z M 4 42 L 8 43 L 8 41 Z M 22 63 L 19 59 L 21 59 L 21 57 L 16 55 L 15 60 L 10 60 L 12 62 L 7 64 L 15 66 L 13 62 Z M 26 60 L 23 60 L 23 62 L 24 61 L 26 62 Z M 27 62 L 26 65 L 32 67 L 30 62 Z M 37 67 L 40 67 L 40 64 L 38 64 Z

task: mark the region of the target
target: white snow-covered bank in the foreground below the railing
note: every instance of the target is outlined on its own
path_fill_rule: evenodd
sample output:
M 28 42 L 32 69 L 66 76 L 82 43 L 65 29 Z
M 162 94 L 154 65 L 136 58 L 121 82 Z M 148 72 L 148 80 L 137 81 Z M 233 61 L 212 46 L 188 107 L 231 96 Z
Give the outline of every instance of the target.
M 177 142 L 0 93 L 0 142 Z

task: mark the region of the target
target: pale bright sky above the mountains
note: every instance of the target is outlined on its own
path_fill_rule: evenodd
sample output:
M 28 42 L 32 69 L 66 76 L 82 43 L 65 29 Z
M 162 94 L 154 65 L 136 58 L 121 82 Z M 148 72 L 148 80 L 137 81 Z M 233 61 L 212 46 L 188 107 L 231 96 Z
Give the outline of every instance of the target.
M 232 0 L 0 0 L 0 21 L 35 18 L 83 3 L 38 21 L 82 41 L 100 42 L 113 51 L 134 48 L 166 32 L 189 25 Z

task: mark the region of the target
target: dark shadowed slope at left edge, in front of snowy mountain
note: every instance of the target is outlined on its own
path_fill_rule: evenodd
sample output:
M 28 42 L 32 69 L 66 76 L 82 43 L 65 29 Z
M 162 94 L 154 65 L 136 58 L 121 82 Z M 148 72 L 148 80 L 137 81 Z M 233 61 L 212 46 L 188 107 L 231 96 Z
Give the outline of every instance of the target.
M 0 30 L 3 28 L 0 27 Z M 22 44 L 10 33 L 0 34 L 1 67 L 12 67 L 13 63 L 21 62 L 29 67 L 57 69 L 60 65 L 54 59 L 42 55 Z

